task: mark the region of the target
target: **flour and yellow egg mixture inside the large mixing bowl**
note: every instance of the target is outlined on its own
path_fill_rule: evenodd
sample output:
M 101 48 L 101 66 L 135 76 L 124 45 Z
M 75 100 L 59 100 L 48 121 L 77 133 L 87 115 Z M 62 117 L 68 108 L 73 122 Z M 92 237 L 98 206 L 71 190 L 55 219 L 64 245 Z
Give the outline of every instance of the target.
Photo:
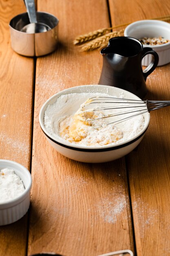
M 91 97 L 105 96 L 102 93 L 71 93 L 60 96 L 55 103 L 47 106 L 44 112 L 44 126 L 56 139 L 82 146 L 105 146 L 118 144 L 137 135 L 144 128 L 144 116 L 139 115 L 120 124 L 108 124 L 122 118 L 110 117 L 89 121 L 113 113 L 115 110 L 94 111 L 92 108 L 108 106 L 106 103 L 96 103 L 83 113 L 84 101 Z M 112 96 L 113 97 L 113 96 Z M 120 95 L 120 97 L 123 97 Z M 82 105 L 82 106 L 81 106 Z M 80 107 L 81 106 L 81 107 Z M 117 110 L 122 111 L 122 110 Z M 116 118 L 116 119 L 115 119 Z

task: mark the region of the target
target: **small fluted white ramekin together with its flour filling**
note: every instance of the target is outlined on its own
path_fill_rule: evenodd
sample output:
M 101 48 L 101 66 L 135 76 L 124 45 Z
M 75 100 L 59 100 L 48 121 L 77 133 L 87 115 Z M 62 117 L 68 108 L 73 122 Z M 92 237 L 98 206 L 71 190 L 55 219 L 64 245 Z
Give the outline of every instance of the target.
M 13 173 L 9 173 L 9 170 L 14 171 L 15 177 Z M 3 186 L 4 180 L 4 184 L 8 186 L 6 190 L 8 195 L 4 195 L 3 199 L 3 195 L 1 194 L 0 226 L 2 226 L 19 220 L 28 211 L 32 178 L 30 172 L 24 166 L 5 159 L 0 159 L 0 171 L 0 175 L 2 176 L 0 179 L 1 185 Z M 10 177 L 10 175 L 13 176 Z M 14 179 L 13 182 L 15 184 L 11 184 L 11 178 Z M 18 185 L 21 185 L 21 183 L 23 183 L 24 189 L 22 189 L 22 186 L 18 188 Z M 12 189 L 11 192 L 9 191 L 10 186 Z M 15 189 L 18 191 L 15 191 Z

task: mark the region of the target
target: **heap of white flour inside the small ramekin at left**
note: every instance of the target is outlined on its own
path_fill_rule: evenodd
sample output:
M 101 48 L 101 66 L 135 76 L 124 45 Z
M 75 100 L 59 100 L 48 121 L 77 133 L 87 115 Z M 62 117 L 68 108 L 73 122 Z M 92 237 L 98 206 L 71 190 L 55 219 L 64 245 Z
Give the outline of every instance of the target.
M 0 203 L 17 198 L 24 190 L 24 184 L 14 170 L 0 170 Z

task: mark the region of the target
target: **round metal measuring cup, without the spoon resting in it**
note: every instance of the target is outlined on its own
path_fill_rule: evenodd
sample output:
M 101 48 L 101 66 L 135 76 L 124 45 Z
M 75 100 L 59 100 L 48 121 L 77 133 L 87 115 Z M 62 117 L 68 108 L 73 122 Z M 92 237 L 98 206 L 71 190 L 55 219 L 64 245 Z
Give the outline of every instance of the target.
M 59 20 L 50 13 L 36 12 L 37 21 L 48 25 L 51 29 L 42 33 L 22 32 L 22 28 L 30 23 L 28 13 L 21 13 L 9 22 L 11 47 L 24 56 L 42 56 L 53 52 L 58 42 Z

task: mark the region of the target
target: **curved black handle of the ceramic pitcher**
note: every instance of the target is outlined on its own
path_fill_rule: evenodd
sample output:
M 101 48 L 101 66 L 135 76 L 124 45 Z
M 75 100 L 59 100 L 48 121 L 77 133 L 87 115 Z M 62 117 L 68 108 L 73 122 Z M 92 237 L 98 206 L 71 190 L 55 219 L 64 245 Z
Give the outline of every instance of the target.
M 150 75 L 155 68 L 158 65 L 158 61 L 159 61 L 159 56 L 158 54 L 150 47 L 144 47 L 143 51 L 142 51 L 142 59 L 144 58 L 144 56 L 146 56 L 147 54 L 152 54 L 152 61 L 151 63 L 148 65 L 148 67 L 146 67 L 143 70 L 143 75 L 144 75 L 144 79 L 146 81 L 146 78 L 148 75 Z

